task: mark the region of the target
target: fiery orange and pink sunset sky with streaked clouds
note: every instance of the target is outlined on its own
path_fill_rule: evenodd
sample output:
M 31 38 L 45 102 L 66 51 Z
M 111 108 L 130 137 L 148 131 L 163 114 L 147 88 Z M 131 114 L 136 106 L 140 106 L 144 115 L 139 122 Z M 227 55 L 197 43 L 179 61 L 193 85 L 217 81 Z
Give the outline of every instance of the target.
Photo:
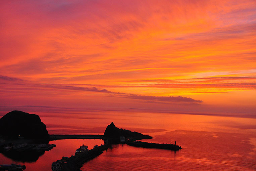
M 0 2 L 0 111 L 256 117 L 255 0 Z

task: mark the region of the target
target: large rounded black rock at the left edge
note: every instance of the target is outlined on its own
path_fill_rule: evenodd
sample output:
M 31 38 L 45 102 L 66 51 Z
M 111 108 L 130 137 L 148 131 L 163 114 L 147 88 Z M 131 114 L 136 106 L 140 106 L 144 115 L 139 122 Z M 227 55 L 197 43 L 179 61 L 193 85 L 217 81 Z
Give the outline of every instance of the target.
M 4 137 L 49 140 L 46 126 L 38 115 L 12 111 L 0 119 L 0 135 Z

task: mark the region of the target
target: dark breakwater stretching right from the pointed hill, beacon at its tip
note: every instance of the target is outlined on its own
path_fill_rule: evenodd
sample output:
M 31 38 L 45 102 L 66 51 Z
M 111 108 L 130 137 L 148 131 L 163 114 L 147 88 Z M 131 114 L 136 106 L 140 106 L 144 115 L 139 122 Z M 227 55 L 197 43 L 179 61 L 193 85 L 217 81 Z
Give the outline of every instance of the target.
M 127 140 L 125 144 L 135 147 L 144 147 L 144 148 L 160 148 L 160 149 L 167 149 L 167 150 L 180 150 L 182 149 L 181 146 L 177 146 L 174 144 L 158 144 L 158 143 L 148 143 L 142 141 L 131 141 Z

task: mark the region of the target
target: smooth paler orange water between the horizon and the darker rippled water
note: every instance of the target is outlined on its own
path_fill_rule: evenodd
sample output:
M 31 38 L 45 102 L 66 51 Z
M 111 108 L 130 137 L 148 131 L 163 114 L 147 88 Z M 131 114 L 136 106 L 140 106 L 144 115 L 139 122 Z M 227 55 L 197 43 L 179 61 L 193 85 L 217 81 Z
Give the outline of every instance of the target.
M 111 122 L 151 136 L 174 130 L 256 134 L 256 119 L 165 113 L 39 114 L 50 134 L 103 134 Z M 54 117 L 50 117 L 54 116 Z M 107 116 L 107 117 L 106 117 Z

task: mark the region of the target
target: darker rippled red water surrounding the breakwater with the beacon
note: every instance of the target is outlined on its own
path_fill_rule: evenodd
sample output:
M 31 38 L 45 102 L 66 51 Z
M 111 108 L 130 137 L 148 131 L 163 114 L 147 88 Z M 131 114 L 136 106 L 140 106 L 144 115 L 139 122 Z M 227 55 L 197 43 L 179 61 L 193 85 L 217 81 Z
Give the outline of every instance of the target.
M 216 135 L 217 137 L 213 137 Z M 173 143 L 183 149 L 137 148 L 113 145 L 113 149 L 84 164 L 82 170 L 243 170 L 256 169 L 252 134 L 177 130 L 147 142 Z

